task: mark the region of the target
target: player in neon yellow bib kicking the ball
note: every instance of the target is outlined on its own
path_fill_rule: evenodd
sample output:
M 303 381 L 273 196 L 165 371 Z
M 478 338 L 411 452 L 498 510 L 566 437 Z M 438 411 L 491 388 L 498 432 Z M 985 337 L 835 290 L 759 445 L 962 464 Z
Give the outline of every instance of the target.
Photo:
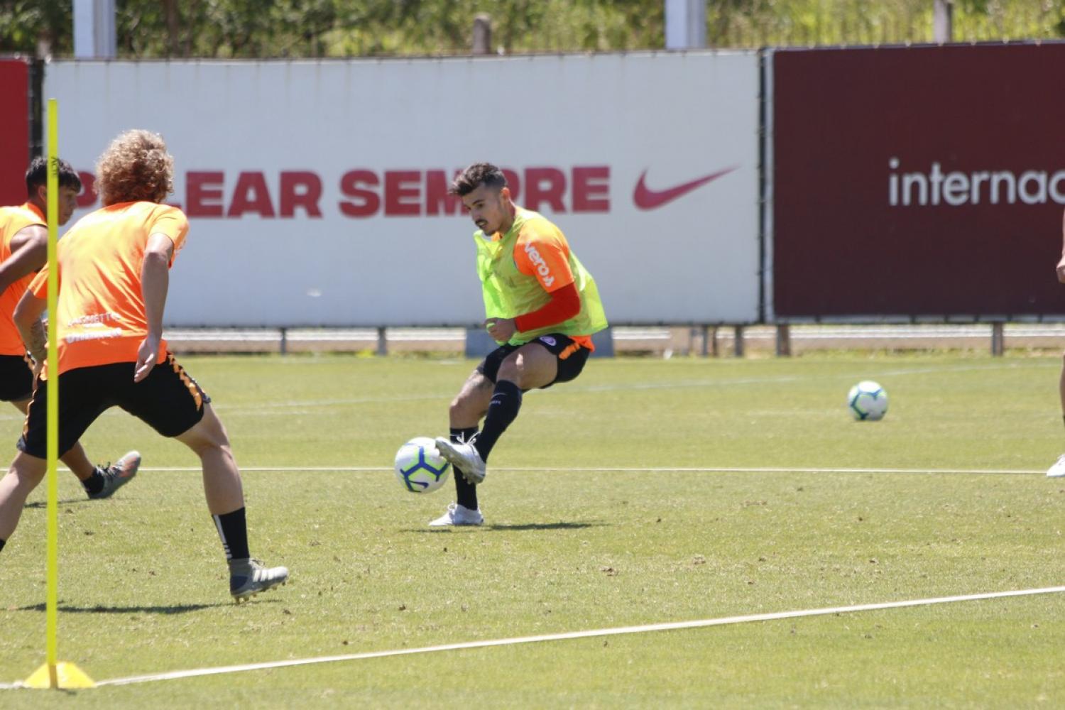
M 480 525 L 477 484 L 496 441 L 518 416 L 522 393 L 576 378 L 594 349 L 592 333 L 607 323 L 595 281 L 561 230 L 514 204 L 499 168 L 471 165 L 448 192 L 462 199 L 479 228 L 474 242 L 485 326 L 501 346 L 452 401 L 450 439 L 437 439 L 440 453 L 461 475 L 455 476 L 458 501 L 429 525 Z

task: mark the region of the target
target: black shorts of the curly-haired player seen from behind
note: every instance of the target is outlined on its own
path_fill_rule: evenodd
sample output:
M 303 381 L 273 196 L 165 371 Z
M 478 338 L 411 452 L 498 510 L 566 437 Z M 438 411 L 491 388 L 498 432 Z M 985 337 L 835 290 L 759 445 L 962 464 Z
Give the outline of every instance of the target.
M 203 418 L 211 401 L 196 380 L 166 353 L 141 382 L 133 381 L 132 362 L 79 367 L 60 375 L 60 456 L 70 450 L 89 425 L 114 406 L 137 417 L 164 436 L 177 436 Z M 18 448 L 44 459 L 48 381 L 37 380 Z

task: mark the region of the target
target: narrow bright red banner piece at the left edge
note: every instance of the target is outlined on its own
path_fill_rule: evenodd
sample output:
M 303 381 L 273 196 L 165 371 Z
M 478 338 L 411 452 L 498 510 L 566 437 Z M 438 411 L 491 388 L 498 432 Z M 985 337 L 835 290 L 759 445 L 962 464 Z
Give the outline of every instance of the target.
M 0 59 L 0 204 L 26 201 L 30 156 L 30 69 L 22 60 Z

